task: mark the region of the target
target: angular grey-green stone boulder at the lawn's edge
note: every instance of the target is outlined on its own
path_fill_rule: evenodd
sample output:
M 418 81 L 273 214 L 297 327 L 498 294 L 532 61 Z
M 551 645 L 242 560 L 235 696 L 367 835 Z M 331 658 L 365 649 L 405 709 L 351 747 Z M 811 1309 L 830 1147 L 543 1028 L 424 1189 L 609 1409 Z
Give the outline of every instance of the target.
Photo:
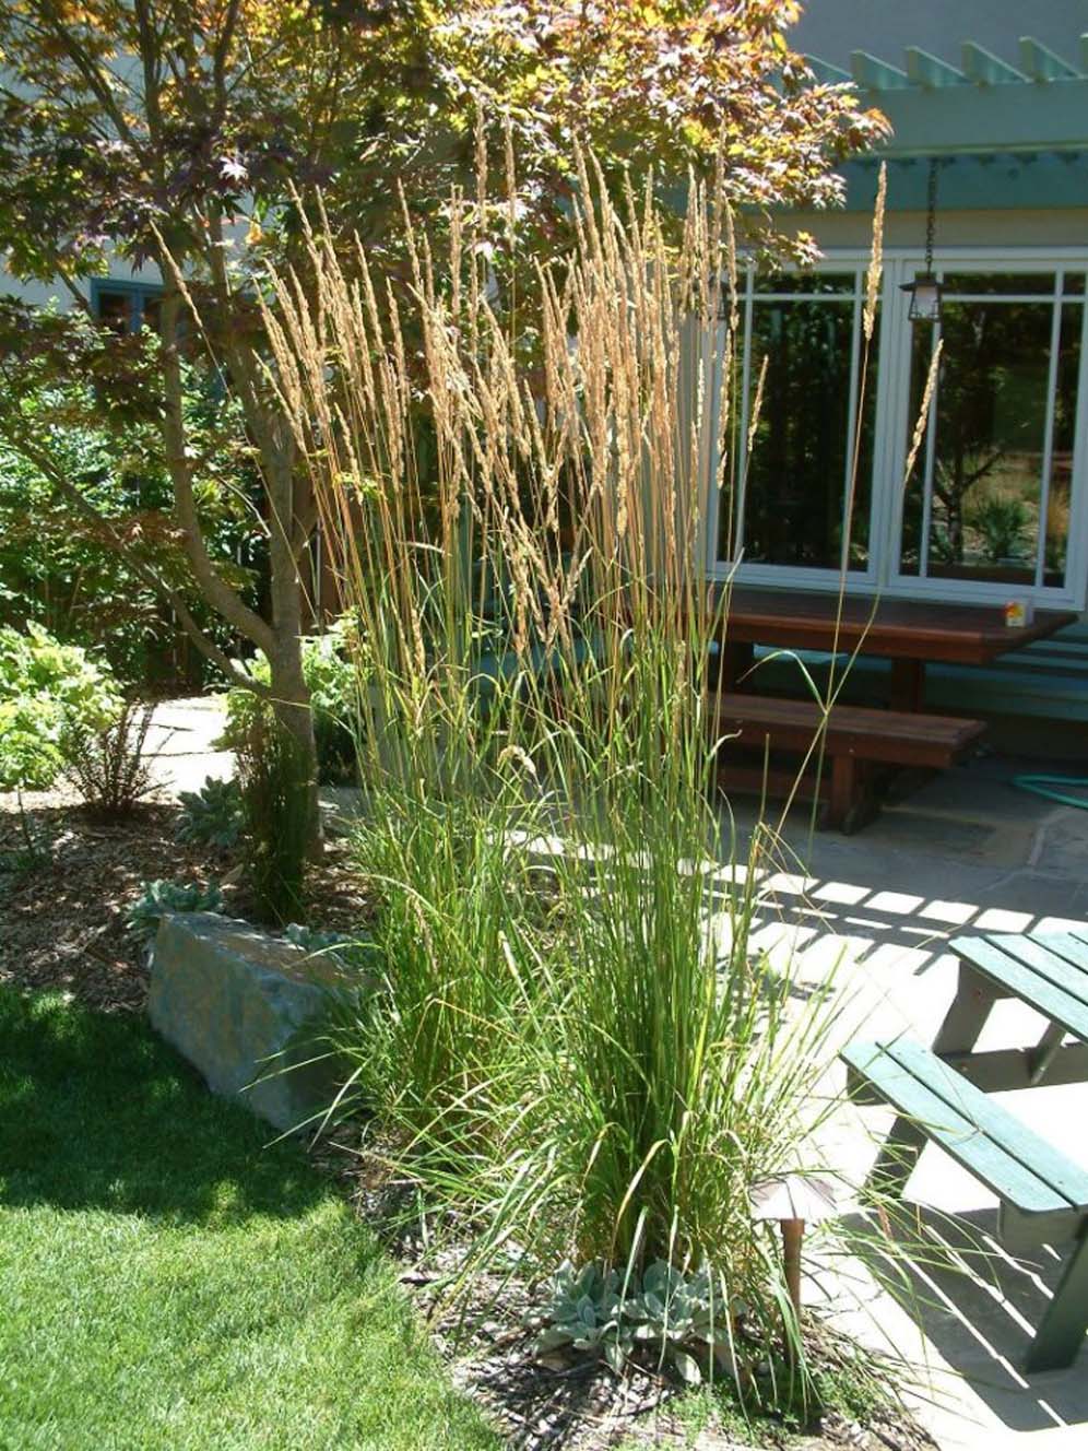
M 361 987 L 329 955 L 313 956 L 250 923 L 174 913 L 155 937 L 148 1011 L 212 1093 L 293 1130 L 335 1097 L 321 1035 L 331 1006 Z

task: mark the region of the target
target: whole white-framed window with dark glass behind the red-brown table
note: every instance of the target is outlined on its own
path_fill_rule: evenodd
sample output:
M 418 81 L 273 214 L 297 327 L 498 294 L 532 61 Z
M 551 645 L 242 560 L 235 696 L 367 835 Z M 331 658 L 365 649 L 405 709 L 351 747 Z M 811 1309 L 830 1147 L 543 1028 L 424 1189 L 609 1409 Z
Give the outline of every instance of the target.
M 720 573 L 834 588 L 846 567 L 892 595 L 1084 608 L 1088 264 L 1015 257 L 946 263 L 940 329 L 908 321 L 899 287 L 917 260 L 886 257 L 867 363 L 865 258 L 746 279 L 734 396 L 751 450 L 744 466 L 737 444 L 731 496 L 712 502 Z

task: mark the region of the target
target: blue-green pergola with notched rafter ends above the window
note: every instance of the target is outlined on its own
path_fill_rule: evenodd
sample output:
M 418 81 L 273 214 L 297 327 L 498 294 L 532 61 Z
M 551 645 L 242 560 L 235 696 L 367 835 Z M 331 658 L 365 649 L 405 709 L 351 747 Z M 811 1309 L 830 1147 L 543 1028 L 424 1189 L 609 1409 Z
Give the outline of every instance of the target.
M 867 51 L 852 54 L 850 71 L 808 57 L 817 80 L 853 83 L 894 128 L 883 148 L 844 168 L 847 207 L 872 207 L 875 170 L 886 160 L 889 205 L 923 209 L 933 157 L 957 207 L 1088 206 L 1088 35 L 1076 61 L 1024 36 L 1018 61 L 973 41 L 963 42 L 959 67 L 917 46 L 902 67 Z

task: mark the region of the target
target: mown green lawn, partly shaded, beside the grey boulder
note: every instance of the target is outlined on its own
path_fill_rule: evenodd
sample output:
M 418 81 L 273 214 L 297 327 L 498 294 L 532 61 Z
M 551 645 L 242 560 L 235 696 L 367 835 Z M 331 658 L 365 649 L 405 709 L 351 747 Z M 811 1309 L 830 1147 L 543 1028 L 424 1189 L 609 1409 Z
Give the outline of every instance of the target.
M 0 1448 L 496 1448 L 395 1271 L 142 1020 L 0 990 Z

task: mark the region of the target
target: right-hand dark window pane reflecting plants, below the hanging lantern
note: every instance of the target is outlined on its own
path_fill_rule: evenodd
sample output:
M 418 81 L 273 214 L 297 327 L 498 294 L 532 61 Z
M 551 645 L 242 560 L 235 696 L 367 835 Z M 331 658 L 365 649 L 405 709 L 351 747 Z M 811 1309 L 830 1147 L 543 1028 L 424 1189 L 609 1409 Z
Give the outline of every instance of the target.
M 904 502 L 902 572 L 1060 586 L 1081 303 L 1055 300 L 1053 274 L 953 280 L 963 292 L 946 292 L 941 308 L 930 432 Z M 911 431 L 933 344 L 933 329 L 914 328 Z

